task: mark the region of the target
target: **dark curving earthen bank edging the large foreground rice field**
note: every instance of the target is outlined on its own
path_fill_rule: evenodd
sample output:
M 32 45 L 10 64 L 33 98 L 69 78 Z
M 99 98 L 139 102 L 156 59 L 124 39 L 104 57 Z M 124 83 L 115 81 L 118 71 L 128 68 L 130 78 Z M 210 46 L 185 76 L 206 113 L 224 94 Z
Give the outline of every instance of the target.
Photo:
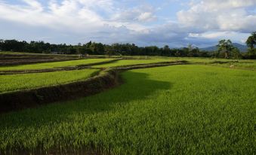
M 137 68 L 153 68 L 168 65 L 186 65 L 186 61 L 165 62 L 155 64 L 129 65 L 116 68 L 106 68 L 93 78 L 85 81 L 76 81 L 57 86 L 40 87 L 33 90 L 22 90 L 0 94 L 0 114 L 24 108 L 34 108 L 52 102 L 77 99 L 82 96 L 90 96 L 103 90 L 122 84 L 119 73 Z

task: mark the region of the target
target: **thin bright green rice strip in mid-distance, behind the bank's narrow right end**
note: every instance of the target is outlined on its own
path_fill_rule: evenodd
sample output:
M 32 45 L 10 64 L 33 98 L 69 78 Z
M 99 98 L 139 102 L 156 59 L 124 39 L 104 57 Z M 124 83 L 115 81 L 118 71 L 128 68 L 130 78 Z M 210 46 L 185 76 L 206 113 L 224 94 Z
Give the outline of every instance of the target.
M 137 65 L 137 64 L 147 64 L 147 63 L 156 63 L 156 62 L 170 62 L 170 59 L 122 59 L 113 63 L 103 64 L 103 65 L 94 65 L 94 67 L 116 67 L 120 65 Z

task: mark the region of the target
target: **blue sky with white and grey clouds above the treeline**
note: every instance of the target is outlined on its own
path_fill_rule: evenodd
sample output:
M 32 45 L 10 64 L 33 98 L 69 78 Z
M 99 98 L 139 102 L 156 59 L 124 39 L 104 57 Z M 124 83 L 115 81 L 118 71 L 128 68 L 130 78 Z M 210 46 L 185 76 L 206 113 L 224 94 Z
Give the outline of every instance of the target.
M 256 0 L 0 0 L 0 38 L 198 47 L 244 43 Z

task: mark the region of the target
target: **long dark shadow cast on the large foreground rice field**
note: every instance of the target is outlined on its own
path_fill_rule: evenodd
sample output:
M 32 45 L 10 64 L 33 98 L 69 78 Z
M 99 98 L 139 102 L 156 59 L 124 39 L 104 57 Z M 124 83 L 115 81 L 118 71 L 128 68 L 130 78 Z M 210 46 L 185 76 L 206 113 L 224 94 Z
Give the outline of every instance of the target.
M 171 83 L 165 81 L 157 81 L 148 78 L 146 73 L 138 73 L 134 71 L 125 71 L 121 75 L 122 84 L 102 93 L 97 93 L 92 96 L 82 97 L 67 102 L 56 102 L 50 105 L 42 105 L 39 108 L 29 108 L 22 111 L 14 111 L 9 114 L 2 114 L 1 117 L 15 117 L 22 114 L 24 120 L 30 117 L 38 117 L 44 114 L 56 114 L 55 118 L 65 117 L 66 114 L 73 112 L 95 113 L 97 111 L 109 111 L 113 108 L 112 105 L 119 105 L 133 100 L 143 100 L 147 96 L 152 95 L 157 90 L 168 90 L 171 88 Z M 67 96 L 69 94 L 66 94 Z M 61 111 L 60 111 L 61 110 Z M 33 118 L 36 119 L 36 118 Z

